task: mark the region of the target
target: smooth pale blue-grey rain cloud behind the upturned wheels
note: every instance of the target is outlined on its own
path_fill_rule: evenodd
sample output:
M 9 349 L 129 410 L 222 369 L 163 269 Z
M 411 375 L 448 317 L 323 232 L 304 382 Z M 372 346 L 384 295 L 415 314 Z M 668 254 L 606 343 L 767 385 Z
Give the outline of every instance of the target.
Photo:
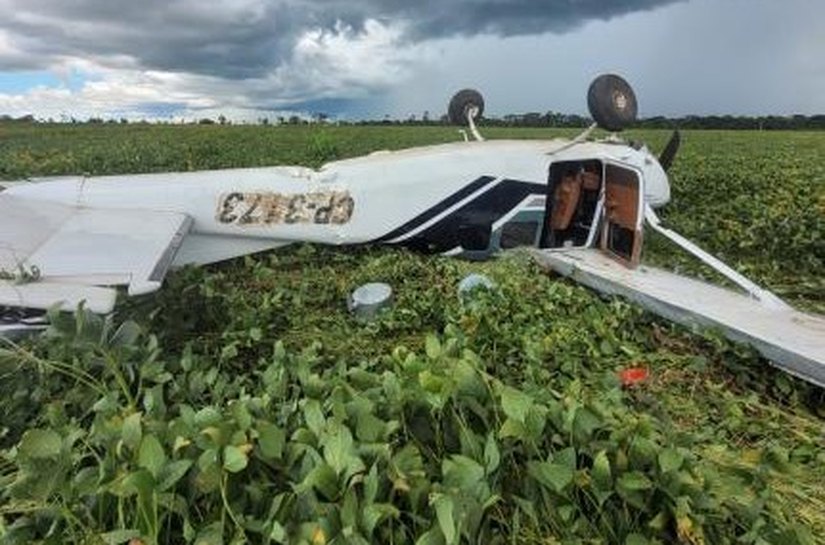
M 631 82 L 642 116 L 825 112 L 821 0 L 691 0 L 565 35 L 447 42 L 390 91 L 394 115 L 443 111 L 465 86 L 484 93 L 490 115 L 586 114 L 603 72 Z

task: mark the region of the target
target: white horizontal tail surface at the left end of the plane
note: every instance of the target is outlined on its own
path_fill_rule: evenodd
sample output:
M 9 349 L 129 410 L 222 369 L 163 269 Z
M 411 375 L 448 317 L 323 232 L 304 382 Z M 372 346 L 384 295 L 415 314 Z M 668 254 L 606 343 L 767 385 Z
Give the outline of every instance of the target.
M 130 295 L 158 289 L 191 223 L 173 212 L 0 195 L 0 306 L 61 302 L 74 310 L 85 300 L 91 310 L 110 312 L 115 292 L 100 286 L 125 285 Z

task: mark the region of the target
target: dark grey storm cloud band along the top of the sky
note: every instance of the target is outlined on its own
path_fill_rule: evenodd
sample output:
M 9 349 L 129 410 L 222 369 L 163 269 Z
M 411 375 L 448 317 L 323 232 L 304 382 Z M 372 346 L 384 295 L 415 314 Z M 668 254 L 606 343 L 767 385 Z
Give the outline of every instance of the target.
M 0 0 L 0 69 L 62 56 L 128 57 L 141 68 L 256 77 L 289 59 L 309 29 L 401 22 L 406 39 L 565 32 L 678 0 Z

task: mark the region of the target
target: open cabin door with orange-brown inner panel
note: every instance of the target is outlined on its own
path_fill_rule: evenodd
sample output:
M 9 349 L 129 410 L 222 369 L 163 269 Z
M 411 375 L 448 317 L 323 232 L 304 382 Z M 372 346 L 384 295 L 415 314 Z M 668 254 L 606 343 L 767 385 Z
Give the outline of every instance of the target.
M 642 255 L 644 188 L 639 174 L 613 163 L 604 166 L 604 214 L 599 247 L 635 267 Z

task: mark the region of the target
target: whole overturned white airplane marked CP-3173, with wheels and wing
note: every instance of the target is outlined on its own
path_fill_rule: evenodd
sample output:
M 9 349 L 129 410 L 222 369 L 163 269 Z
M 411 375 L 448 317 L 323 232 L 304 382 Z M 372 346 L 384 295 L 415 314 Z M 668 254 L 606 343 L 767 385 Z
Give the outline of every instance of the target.
M 661 157 L 611 134 L 636 117 L 630 86 L 603 75 L 588 92 L 596 123 L 573 140 L 485 141 L 473 90 L 449 116 L 473 141 L 379 151 L 313 170 L 271 167 L 82 176 L 6 183 L 0 193 L 0 334 L 30 327 L 30 311 L 109 313 L 116 286 L 157 290 L 170 267 L 206 264 L 292 242 L 381 243 L 468 258 L 535 248 L 542 264 L 668 319 L 720 328 L 786 371 L 825 386 L 825 319 L 797 312 L 660 225 Z M 639 266 L 643 224 L 744 293 Z M 20 309 L 26 309 L 21 311 Z M 5 321 L 5 323 L 4 323 Z

